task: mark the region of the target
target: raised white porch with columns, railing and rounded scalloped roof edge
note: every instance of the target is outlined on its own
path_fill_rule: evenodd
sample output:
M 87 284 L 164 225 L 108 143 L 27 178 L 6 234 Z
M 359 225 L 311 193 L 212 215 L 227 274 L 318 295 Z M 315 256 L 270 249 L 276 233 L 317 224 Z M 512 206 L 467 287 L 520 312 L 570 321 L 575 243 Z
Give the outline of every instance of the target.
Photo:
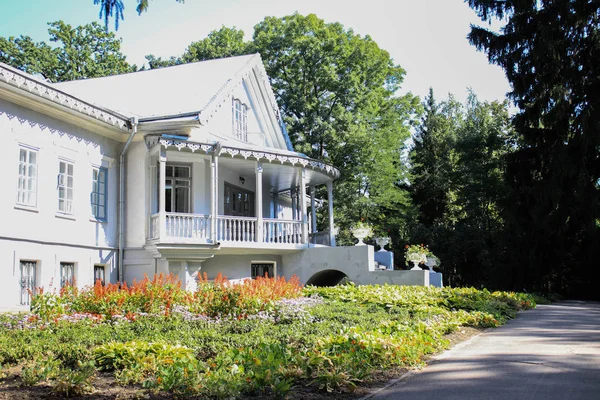
M 316 232 L 320 185 L 333 228 L 332 183 L 339 172 L 331 166 L 280 149 L 156 143 L 149 146 L 145 194 L 145 248 L 155 257 L 273 254 L 333 242 L 329 233 Z

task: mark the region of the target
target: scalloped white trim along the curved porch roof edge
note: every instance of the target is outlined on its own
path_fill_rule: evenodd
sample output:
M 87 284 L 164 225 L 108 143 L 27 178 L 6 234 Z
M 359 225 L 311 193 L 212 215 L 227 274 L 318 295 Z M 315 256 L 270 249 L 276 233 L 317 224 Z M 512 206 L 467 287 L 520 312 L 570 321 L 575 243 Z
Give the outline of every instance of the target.
M 179 151 L 181 151 L 182 149 L 189 149 L 192 151 L 192 153 L 202 150 L 206 154 L 215 154 L 218 156 L 229 155 L 232 158 L 244 158 L 246 160 L 248 158 L 251 158 L 257 161 L 268 161 L 269 163 L 272 163 L 273 161 L 278 161 L 281 164 L 287 163 L 293 166 L 312 168 L 313 170 L 324 172 L 334 179 L 337 179 L 340 176 L 340 171 L 337 168 L 324 162 L 313 160 L 308 157 L 303 157 L 301 155 L 292 156 L 270 151 L 240 149 L 236 147 L 222 146 L 219 143 L 194 143 L 185 140 L 166 139 L 155 135 L 146 136 L 145 142 L 148 150 L 160 144 L 165 149 L 168 149 L 169 147 L 175 147 Z

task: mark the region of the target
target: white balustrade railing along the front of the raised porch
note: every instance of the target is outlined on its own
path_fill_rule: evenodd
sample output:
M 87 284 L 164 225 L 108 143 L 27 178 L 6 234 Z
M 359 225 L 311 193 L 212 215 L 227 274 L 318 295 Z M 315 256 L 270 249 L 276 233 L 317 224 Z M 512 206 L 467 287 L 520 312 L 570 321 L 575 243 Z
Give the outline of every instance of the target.
M 210 215 L 165 213 L 165 226 L 161 233 L 160 214 L 153 214 L 150 216 L 148 239 L 206 243 L 212 239 L 212 223 Z M 215 242 L 303 244 L 301 221 L 265 218 L 262 230 L 258 229 L 258 219 L 254 217 L 219 215 L 214 223 Z

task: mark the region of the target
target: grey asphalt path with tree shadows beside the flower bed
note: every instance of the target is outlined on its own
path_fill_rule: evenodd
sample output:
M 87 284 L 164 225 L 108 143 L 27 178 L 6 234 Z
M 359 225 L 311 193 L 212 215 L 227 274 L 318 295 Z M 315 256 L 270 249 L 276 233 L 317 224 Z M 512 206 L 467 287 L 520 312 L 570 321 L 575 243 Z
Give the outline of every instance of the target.
M 521 312 L 366 398 L 600 400 L 600 303 Z

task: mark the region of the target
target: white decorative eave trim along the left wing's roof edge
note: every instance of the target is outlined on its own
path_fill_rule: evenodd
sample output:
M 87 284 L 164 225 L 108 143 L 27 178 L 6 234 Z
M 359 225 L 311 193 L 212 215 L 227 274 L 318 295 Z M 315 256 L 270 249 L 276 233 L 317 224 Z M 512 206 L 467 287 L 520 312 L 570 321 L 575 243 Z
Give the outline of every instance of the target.
M 49 84 L 32 79 L 24 72 L 13 70 L 12 68 L 9 69 L 1 64 L 0 82 L 6 82 L 12 87 L 29 92 L 73 111 L 77 111 L 123 131 L 128 131 L 129 129 L 129 120 L 125 116 L 86 103 L 70 94 L 51 87 Z

